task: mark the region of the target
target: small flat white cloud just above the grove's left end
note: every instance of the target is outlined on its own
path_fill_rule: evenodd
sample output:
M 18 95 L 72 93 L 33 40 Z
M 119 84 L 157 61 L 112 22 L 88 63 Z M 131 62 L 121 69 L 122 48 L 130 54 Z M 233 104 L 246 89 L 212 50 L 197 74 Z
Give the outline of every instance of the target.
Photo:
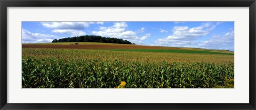
M 83 31 L 79 31 L 79 30 L 52 30 L 53 33 L 60 33 L 60 34 L 70 34 L 71 36 L 82 36 L 82 35 L 86 35 L 85 32 Z

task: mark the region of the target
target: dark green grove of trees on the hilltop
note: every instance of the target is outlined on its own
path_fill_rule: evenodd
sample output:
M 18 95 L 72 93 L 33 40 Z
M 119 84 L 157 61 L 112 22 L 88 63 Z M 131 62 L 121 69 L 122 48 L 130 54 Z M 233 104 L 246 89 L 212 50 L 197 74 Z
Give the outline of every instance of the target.
M 72 38 L 54 39 L 52 42 L 103 42 L 103 43 L 120 43 L 120 44 L 134 44 L 127 40 L 117 38 L 106 38 L 96 35 L 75 36 Z

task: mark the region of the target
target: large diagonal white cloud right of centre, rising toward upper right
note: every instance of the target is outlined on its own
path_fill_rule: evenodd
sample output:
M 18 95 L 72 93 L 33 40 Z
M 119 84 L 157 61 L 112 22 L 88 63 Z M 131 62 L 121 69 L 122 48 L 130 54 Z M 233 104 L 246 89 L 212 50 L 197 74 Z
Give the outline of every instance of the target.
M 173 35 L 169 35 L 163 39 L 157 39 L 156 45 L 169 45 L 173 47 L 188 47 L 198 43 L 195 40 L 201 38 L 215 29 L 217 24 L 211 22 L 202 23 L 200 26 L 191 27 L 188 26 L 174 26 Z

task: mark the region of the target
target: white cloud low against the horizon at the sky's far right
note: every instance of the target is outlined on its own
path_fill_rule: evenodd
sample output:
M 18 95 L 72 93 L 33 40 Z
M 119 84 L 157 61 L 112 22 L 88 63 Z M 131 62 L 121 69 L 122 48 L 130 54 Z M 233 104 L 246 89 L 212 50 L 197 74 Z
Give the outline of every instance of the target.
M 209 40 L 198 44 L 206 49 L 223 49 L 234 51 L 234 30 L 229 30 L 224 35 L 213 35 Z

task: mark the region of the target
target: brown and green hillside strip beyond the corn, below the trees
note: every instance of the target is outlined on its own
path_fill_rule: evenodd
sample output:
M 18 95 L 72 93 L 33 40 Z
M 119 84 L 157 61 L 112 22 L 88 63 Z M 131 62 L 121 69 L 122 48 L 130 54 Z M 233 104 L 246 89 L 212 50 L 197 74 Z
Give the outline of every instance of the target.
M 22 44 L 22 48 L 53 48 L 53 49 L 97 49 L 111 51 L 134 51 L 134 52 L 173 52 L 173 53 L 205 53 L 205 54 L 230 54 L 234 52 L 227 50 L 210 50 L 200 48 L 178 48 L 178 47 L 159 47 L 148 45 L 131 45 L 115 43 L 97 43 L 97 42 L 57 42 L 57 43 L 29 43 Z

